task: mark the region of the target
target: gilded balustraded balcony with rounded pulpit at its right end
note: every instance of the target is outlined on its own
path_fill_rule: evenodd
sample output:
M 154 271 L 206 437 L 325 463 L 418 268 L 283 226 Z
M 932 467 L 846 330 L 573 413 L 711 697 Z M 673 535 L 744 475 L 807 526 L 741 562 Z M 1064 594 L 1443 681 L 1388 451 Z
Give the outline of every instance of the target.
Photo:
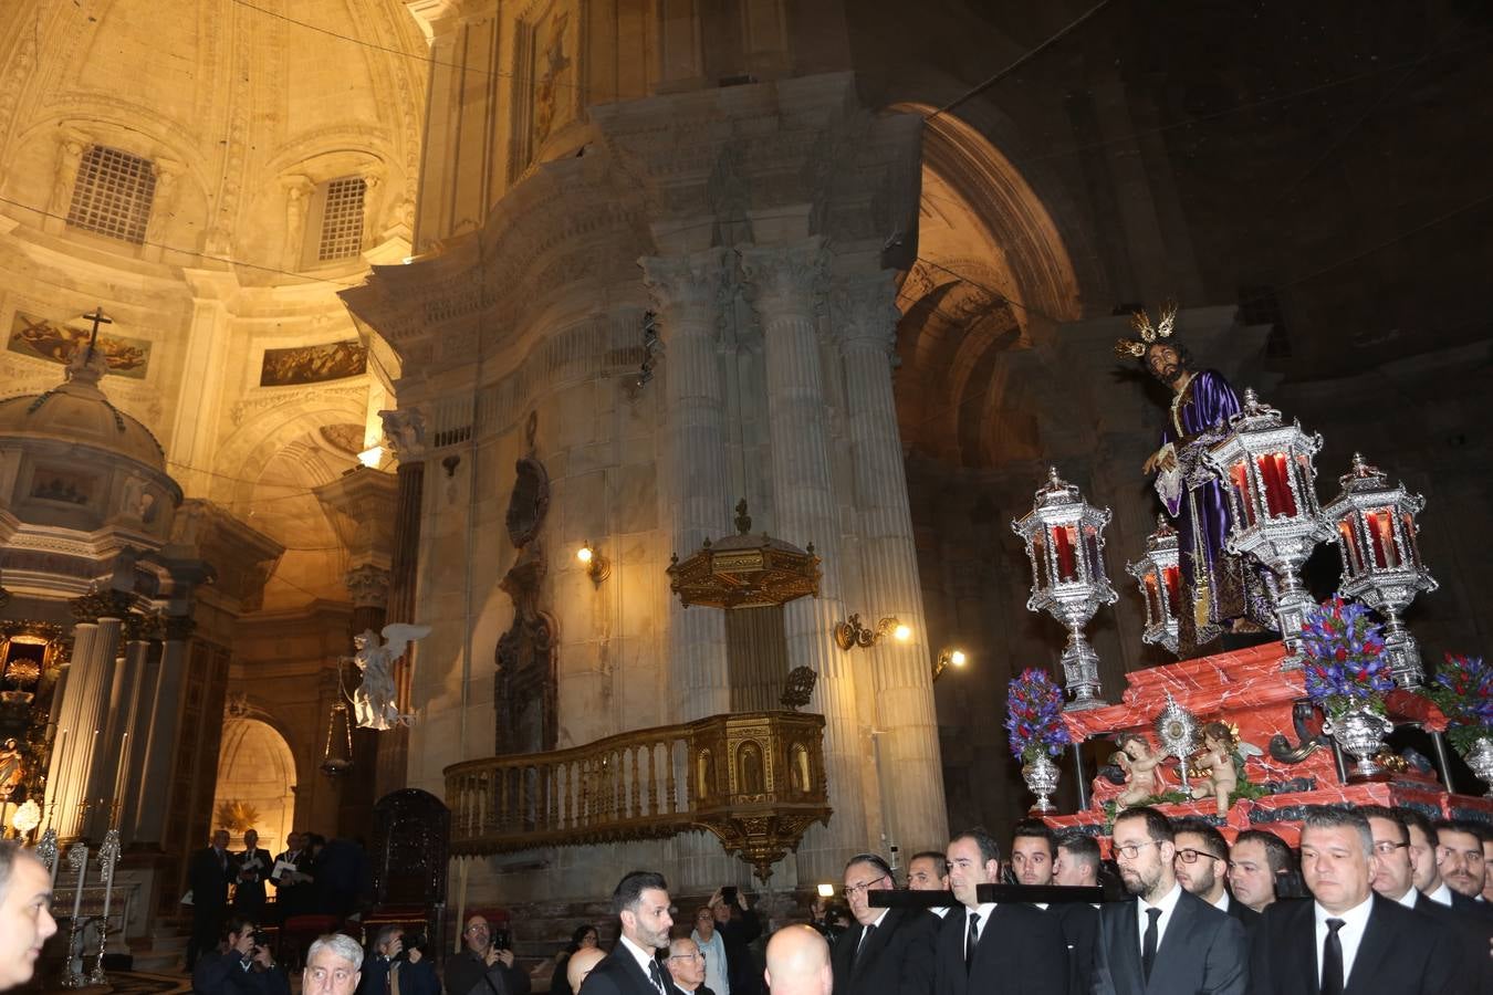
M 709 829 L 766 880 L 827 822 L 824 716 L 718 715 L 445 770 L 451 853 L 654 840 Z

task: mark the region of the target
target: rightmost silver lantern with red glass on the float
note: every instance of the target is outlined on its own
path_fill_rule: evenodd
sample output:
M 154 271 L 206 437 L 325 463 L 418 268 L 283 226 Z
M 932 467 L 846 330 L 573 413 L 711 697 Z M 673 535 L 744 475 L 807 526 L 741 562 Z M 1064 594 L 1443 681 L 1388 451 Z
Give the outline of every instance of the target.
M 1342 597 L 1357 598 L 1384 618 L 1384 653 L 1394 683 L 1418 688 L 1426 670 L 1399 613 L 1418 592 L 1436 589 L 1415 543 L 1415 516 L 1426 507 L 1426 498 L 1409 494 L 1403 483 L 1390 486 L 1388 477 L 1359 453 L 1353 453 L 1353 468 L 1338 480 L 1342 494 L 1323 515 L 1338 528 Z

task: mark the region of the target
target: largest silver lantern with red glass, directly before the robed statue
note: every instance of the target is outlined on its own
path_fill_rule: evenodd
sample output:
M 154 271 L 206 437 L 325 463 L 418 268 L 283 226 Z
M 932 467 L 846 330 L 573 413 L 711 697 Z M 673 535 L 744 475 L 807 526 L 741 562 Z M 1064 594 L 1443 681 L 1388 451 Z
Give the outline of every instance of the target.
M 1281 413 L 1244 392 L 1244 409 L 1229 418 L 1229 436 L 1203 453 L 1203 461 L 1229 495 L 1229 552 L 1245 553 L 1275 574 L 1275 618 L 1290 656 L 1300 667 L 1302 621 L 1315 601 L 1300 580 L 1300 565 L 1332 530 L 1317 504 L 1312 456 L 1321 436 L 1308 436 L 1300 422 L 1285 424 Z

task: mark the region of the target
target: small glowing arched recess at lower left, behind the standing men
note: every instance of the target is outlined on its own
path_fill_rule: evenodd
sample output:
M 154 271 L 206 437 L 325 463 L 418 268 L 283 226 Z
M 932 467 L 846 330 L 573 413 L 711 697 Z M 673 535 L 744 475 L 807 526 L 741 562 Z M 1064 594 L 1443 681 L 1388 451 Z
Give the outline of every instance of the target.
M 252 807 L 260 846 L 272 853 L 285 849 L 296 819 L 296 756 L 290 743 L 260 715 L 230 716 L 218 750 L 218 786 L 212 798 L 213 826 L 224 804 Z M 243 831 L 233 832 L 234 840 Z

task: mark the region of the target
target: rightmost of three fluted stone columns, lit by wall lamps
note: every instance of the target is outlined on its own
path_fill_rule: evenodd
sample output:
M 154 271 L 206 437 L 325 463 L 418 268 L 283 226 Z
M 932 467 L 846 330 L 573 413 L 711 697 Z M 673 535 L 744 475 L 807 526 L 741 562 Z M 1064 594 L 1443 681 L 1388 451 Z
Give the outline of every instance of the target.
M 833 295 L 845 373 L 845 406 L 860 528 L 861 610 L 894 615 L 912 628 L 906 643 L 884 638 L 870 653 L 879 732 L 882 823 L 903 853 L 948 838 L 932 655 L 918 579 L 908 480 L 891 392 L 891 355 L 900 316 L 888 273 L 842 283 Z

